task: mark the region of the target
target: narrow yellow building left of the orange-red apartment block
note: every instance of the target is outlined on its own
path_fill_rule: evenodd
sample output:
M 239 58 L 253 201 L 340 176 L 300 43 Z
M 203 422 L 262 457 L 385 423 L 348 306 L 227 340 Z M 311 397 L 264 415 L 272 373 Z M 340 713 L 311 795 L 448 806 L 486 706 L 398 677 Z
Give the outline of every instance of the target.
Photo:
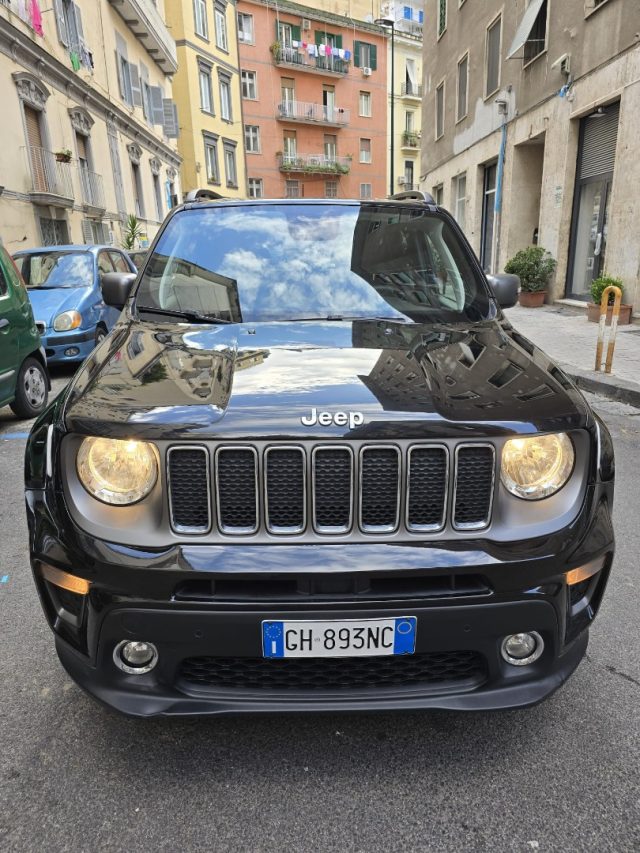
M 165 6 L 178 55 L 173 95 L 183 190 L 208 186 L 225 197 L 245 197 L 236 4 L 165 0 Z

